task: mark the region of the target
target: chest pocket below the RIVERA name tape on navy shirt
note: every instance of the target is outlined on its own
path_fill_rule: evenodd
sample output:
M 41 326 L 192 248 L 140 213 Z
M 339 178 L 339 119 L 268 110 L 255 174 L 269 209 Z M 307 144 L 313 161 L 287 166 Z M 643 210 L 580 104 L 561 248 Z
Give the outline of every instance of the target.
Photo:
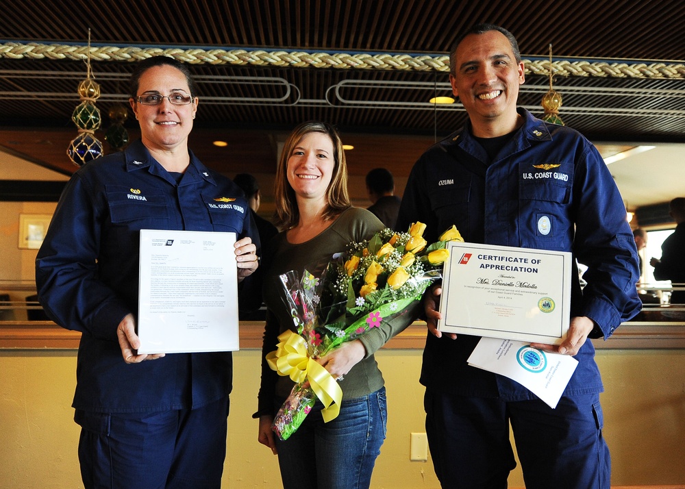
M 162 190 L 105 186 L 112 223 L 132 221 L 169 221 L 169 209 Z

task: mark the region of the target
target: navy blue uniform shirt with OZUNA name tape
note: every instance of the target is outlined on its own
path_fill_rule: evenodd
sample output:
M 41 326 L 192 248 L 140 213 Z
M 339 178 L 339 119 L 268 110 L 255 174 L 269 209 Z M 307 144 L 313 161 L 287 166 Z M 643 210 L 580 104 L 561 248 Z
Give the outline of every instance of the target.
M 608 338 L 640 311 L 637 251 L 623 199 L 595 147 L 577 131 L 519 109 L 524 123 L 490 161 L 470 123 L 426 151 L 402 196 L 397 229 L 421 221 L 427 242 L 456 225 L 466 242 L 570 251 L 587 265 L 581 290 L 573 274 L 571 316 Z M 575 265 L 575 264 L 574 264 Z M 516 382 L 466 359 L 479 336 L 427 335 L 421 383 L 440 391 L 505 401 L 536 399 Z M 564 395 L 601 392 L 595 348 L 586 341 Z

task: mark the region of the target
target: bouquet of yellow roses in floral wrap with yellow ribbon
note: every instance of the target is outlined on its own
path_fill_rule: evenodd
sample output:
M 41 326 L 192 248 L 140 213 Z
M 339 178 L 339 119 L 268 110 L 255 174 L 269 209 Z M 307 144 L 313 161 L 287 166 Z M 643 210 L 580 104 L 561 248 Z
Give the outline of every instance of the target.
M 370 240 L 351 242 L 318 279 L 308 271 L 280 276 L 297 329 L 279 335 L 277 349 L 266 356 L 273 370 L 296 383 L 273 422 L 281 440 L 297 431 L 316 399 L 324 405 L 325 422 L 338 416 L 343 390 L 316 359 L 405 314 L 441 277 L 447 242 L 463 241 L 454 226 L 430 245 L 423 231 L 425 224 L 414 223 L 406 233 L 386 228 Z

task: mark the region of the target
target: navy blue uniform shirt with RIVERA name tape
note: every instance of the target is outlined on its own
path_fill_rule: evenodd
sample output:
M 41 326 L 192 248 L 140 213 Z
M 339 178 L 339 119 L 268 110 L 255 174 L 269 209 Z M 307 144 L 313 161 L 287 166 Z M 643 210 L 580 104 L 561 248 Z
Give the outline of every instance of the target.
M 259 249 L 242 190 L 192 153 L 178 183 L 140 141 L 79 168 L 36 258 L 40 303 L 55 323 L 82 332 L 74 408 L 190 409 L 232 389 L 230 352 L 124 362 L 116 327 L 126 314 L 138 312 L 140 229 L 232 231 L 238 239 L 249 236 Z M 249 294 L 248 283 L 249 277 L 241 297 Z

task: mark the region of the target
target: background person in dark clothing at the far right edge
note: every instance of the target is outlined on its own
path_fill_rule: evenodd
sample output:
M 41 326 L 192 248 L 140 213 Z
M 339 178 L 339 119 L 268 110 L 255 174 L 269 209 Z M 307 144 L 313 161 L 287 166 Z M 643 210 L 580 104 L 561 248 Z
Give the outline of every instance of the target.
M 654 278 L 670 280 L 671 284 L 685 284 L 685 197 L 676 197 L 669 204 L 669 214 L 675 220 L 673 234 L 661 245 L 661 259 L 652 258 Z M 685 290 L 671 292 L 672 304 L 685 304 Z

